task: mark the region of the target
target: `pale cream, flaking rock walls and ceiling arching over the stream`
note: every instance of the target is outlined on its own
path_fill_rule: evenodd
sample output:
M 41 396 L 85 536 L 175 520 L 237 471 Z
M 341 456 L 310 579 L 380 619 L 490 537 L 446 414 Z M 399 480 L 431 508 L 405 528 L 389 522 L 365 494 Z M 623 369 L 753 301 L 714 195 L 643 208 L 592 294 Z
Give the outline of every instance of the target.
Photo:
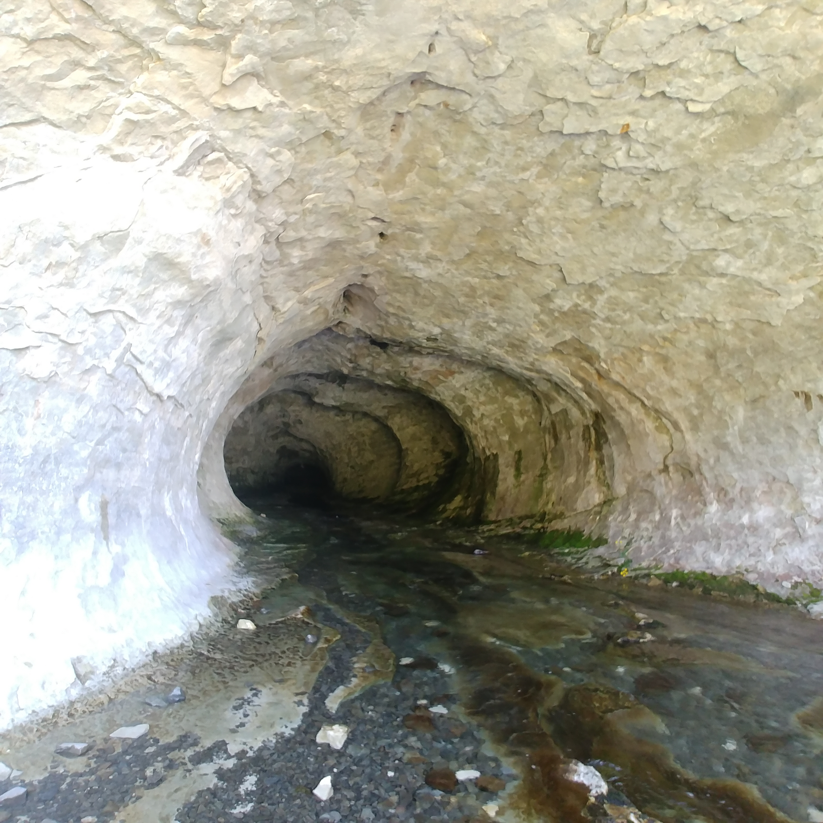
M 821 12 L 7 4 L 0 727 L 240 584 L 253 409 L 353 497 L 823 579 Z

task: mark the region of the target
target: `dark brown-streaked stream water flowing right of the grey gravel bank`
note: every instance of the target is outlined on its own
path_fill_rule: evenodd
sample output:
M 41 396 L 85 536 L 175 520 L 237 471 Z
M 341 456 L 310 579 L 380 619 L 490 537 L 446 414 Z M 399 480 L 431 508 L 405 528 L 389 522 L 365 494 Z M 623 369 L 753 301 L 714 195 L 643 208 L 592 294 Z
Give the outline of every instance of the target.
M 299 586 L 376 621 L 398 660 L 455 670 L 457 711 L 518 774 L 499 817 L 823 820 L 820 623 L 593 574 L 528 536 L 255 508 L 303 547 Z M 592 802 L 572 760 L 610 793 Z

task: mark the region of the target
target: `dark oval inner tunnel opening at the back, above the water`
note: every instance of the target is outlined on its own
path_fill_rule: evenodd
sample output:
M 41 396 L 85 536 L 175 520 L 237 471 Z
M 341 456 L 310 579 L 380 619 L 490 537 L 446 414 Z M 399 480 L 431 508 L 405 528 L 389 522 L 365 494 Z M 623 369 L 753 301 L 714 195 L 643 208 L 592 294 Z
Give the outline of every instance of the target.
M 464 507 L 469 449 L 449 412 L 421 393 L 345 374 L 295 374 L 244 409 L 224 445 L 250 508 Z

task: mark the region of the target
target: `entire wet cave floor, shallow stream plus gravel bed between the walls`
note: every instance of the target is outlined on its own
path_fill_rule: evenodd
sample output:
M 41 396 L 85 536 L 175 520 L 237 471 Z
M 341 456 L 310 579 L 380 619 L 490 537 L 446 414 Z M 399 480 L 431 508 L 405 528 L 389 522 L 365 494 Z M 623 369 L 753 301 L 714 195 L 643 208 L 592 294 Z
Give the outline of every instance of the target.
M 132 692 L 0 740 L 28 789 L 0 823 L 823 821 L 820 622 L 528 532 L 247 502 L 258 599 Z M 174 684 L 184 703 L 146 704 Z M 112 741 L 127 722 L 151 732 Z M 54 756 L 69 737 L 94 747 Z

